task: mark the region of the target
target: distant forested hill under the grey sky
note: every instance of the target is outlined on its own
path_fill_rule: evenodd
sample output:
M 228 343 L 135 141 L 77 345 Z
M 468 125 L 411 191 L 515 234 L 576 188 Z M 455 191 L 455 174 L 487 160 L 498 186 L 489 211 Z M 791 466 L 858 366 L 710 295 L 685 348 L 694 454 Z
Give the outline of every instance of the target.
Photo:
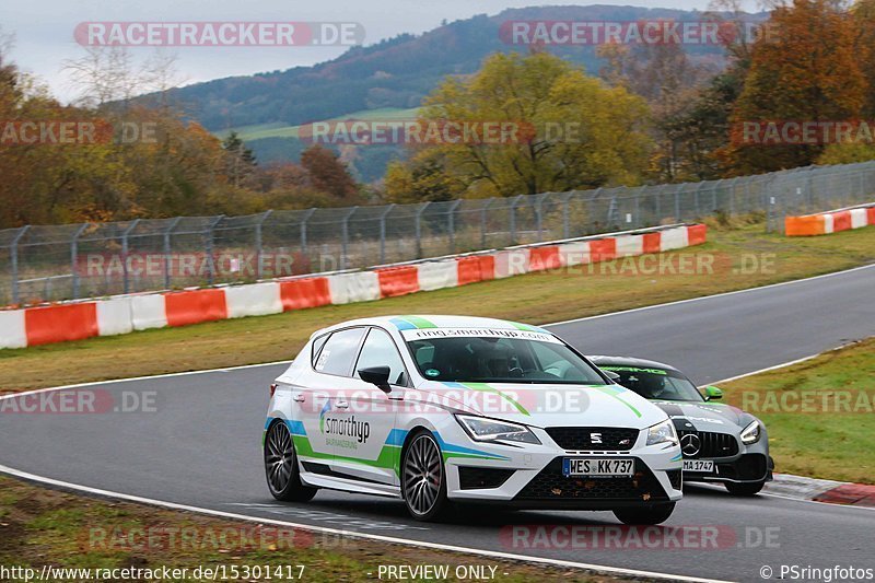
M 702 13 L 609 5 L 509 9 L 493 16 L 482 14 L 448 23 L 422 35 L 404 34 L 372 46 L 354 47 L 337 59 L 313 67 L 192 84 L 173 90 L 170 97 L 211 131 L 224 133 L 231 128 L 242 128 L 244 133 L 250 133 L 246 136 L 247 145 L 260 160 L 294 160 L 301 144 L 283 128 L 354 112 L 415 108 L 444 77 L 471 74 L 492 53 L 528 50 L 500 38 L 500 27 L 505 21 L 652 19 L 699 21 Z M 547 48 L 583 65 L 594 74 L 600 66 L 595 46 Z M 715 71 L 725 65 L 719 46 L 691 45 L 687 51 L 696 62 L 711 65 Z M 378 168 L 358 170 L 363 179 L 381 174 Z

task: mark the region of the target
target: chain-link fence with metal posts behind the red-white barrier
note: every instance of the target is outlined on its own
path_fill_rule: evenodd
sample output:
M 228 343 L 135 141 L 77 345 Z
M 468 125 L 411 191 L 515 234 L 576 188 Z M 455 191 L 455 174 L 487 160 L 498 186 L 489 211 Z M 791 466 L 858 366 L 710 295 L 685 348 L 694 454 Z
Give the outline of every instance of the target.
M 784 217 L 875 201 L 875 162 L 702 183 L 247 217 L 0 230 L 0 305 L 257 281 L 723 213 Z

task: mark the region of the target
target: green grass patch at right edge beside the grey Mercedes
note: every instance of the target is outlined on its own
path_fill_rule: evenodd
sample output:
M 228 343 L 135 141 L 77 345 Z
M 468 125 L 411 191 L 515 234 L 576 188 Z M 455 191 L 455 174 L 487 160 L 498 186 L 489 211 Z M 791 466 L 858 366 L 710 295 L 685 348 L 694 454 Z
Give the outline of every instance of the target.
M 875 338 L 723 388 L 766 423 L 778 471 L 875 483 Z

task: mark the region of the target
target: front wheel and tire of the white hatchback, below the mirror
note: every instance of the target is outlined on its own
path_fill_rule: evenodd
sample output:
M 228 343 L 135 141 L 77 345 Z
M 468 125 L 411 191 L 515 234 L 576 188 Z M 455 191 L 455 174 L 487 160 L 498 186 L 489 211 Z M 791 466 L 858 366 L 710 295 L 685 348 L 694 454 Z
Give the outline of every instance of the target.
M 419 431 L 401 457 L 401 495 L 417 521 L 432 522 L 448 514 L 446 468 L 441 446 L 429 431 Z

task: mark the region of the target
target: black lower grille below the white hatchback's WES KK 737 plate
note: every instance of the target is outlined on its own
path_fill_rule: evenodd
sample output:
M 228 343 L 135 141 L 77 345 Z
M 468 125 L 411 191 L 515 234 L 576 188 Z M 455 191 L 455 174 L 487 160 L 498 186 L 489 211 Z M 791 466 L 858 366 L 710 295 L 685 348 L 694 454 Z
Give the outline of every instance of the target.
M 578 478 L 562 475 L 562 458 L 541 469 L 514 500 L 661 501 L 668 500 L 656 477 L 640 459 L 629 478 Z

